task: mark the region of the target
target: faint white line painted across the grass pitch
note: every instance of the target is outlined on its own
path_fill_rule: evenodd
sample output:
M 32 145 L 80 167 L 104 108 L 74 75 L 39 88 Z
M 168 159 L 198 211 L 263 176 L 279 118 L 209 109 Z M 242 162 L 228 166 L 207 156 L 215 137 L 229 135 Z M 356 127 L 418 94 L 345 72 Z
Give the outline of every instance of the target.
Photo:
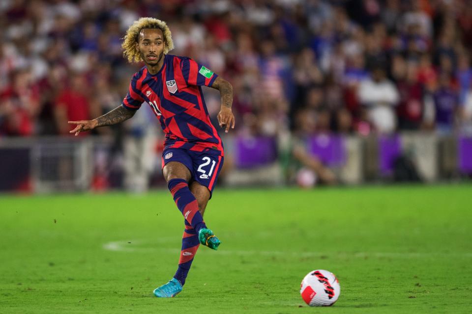
M 111 241 L 103 244 L 102 248 L 107 251 L 116 252 L 165 252 L 169 254 L 178 254 L 180 249 L 178 248 L 163 248 L 159 247 L 159 242 L 167 242 L 169 239 L 160 238 L 159 241 L 154 241 L 154 244 L 149 241 L 142 240 L 120 240 Z M 175 240 L 175 238 L 172 238 Z M 147 243 L 146 246 L 136 246 L 136 244 Z M 251 250 L 219 250 L 218 255 L 239 255 L 239 256 L 294 256 L 294 257 L 349 257 L 349 258 L 404 258 L 404 259 L 416 259 L 416 258 L 427 258 L 427 257 L 465 257 L 472 258 L 472 253 L 394 253 L 394 252 L 290 252 L 290 251 L 251 251 Z

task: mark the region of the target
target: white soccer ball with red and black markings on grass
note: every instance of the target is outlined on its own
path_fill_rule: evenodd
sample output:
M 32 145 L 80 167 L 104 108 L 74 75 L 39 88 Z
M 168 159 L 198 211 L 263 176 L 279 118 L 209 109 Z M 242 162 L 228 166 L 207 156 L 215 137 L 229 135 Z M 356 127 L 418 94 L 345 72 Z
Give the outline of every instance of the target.
M 310 271 L 300 284 L 301 297 L 309 306 L 331 306 L 340 292 L 336 276 L 324 269 Z

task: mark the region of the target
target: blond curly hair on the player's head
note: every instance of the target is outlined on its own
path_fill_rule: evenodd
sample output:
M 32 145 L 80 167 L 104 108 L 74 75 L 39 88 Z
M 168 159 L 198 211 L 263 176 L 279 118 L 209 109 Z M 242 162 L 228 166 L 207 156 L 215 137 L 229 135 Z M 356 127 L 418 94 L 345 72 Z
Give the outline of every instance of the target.
M 124 35 L 124 41 L 121 44 L 123 48 L 123 56 L 128 59 L 129 62 L 140 62 L 143 61 L 139 51 L 136 49 L 136 43 L 138 42 L 138 36 L 143 28 L 159 28 L 164 34 L 164 42 L 166 46 L 164 48 L 164 54 L 174 49 L 174 42 L 172 41 L 172 34 L 169 26 L 166 22 L 154 19 L 154 18 L 141 18 L 134 21 L 133 25 L 129 26 Z

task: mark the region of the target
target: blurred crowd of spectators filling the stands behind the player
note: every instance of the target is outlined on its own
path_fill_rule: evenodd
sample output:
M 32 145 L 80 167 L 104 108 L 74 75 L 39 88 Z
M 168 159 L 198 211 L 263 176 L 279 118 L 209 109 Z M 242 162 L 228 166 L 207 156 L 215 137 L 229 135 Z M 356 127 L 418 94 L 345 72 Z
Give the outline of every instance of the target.
M 121 38 L 141 16 L 232 82 L 240 132 L 471 128 L 467 0 L 5 0 L 0 136 L 66 135 L 119 105 L 141 66 Z

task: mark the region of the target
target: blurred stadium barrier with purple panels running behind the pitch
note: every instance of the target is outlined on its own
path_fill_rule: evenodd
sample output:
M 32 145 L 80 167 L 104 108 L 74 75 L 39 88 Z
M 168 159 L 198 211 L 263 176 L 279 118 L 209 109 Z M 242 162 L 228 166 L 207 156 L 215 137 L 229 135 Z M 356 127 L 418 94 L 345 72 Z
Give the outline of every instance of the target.
M 292 140 L 290 135 L 285 139 L 226 136 L 226 169 L 221 181 L 228 185 L 290 184 L 282 159 L 291 154 L 287 143 Z M 113 143 L 113 138 L 93 136 L 0 138 L 0 190 L 89 190 L 97 172 L 110 175 L 110 169 L 104 168 L 113 165 L 123 171 Z M 318 135 L 306 141 L 306 150 L 346 184 L 436 182 L 472 175 L 472 136 L 419 132 L 369 137 Z M 156 163 L 154 173 L 162 176 L 160 164 Z M 163 185 L 162 180 L 152 182 L 153 186 Z M 105 185 L 122 187 L 119 180 Z

